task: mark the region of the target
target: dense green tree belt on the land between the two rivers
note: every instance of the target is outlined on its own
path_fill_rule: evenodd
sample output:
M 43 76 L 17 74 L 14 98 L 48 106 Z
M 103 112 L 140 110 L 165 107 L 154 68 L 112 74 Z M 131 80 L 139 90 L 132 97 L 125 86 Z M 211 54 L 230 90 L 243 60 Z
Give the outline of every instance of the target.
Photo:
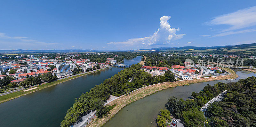
M 75 123 L 79 117 L 91 110 L 96 110 L 96 115 L 99 118 L 106 116 L 108 107 L 103 106 L 103 104 L 110 95 L 129 94 L 129 92 L 143 86 L 165 81 L 175 81 L 174 75 L 169 73 L 166 73 L 169 74 L 166 78 L 164 76 L 152 77 L 151 74 L 140 70 L 140 68 L 140 64 L 125 68 L 113 77 L 103 81 L 100 85 L 96 85 L 89 92 L 83 93 L 79 98 L 76 98 L 73 107 L 68 109 L 60 126 L 70 126 L 72 123 Z

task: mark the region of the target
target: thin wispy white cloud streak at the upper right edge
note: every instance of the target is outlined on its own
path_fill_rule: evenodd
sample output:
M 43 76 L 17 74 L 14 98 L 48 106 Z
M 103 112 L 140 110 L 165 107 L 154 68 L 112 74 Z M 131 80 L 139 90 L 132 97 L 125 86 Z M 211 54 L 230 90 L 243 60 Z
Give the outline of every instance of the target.
M 256 25 L 256 6 L 224 14 L 206 22 L 207 25 L 229 25 L 228 29 L 221 32 L 237 30 Z

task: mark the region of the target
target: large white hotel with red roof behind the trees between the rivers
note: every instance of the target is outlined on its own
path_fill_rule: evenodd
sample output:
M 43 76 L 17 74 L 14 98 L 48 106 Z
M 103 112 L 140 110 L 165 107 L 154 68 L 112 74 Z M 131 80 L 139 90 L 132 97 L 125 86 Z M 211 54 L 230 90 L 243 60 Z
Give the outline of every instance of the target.
M 166 70 L 169 70 L 169 68 L 167 67 L 156 67 L 156 66 L 154 67 L 142 66 L 141 69 L 152 75 L 161 75 L 161 74 L 164 74 Z

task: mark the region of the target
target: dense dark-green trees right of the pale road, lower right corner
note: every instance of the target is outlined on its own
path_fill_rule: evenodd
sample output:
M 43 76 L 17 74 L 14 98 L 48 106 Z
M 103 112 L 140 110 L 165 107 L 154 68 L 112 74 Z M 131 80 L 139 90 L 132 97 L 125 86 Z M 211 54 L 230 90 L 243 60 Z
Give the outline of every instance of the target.
M 209 106 L 212 126 L 256 126 L 256 77 L 226 84 L 228 92 L 221 102 Z

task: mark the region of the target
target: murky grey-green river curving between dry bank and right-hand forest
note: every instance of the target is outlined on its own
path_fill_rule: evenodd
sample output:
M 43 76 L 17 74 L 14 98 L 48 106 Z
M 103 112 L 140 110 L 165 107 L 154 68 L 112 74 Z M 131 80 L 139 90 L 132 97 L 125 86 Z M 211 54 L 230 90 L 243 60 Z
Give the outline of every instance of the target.
M 132 102 L 121 109 L 115 117 L 108 121 L 104 127 L 153 127 L 156 126 L 156 116 L 161 109 L 165 109 L 170 96 L 175 96 L 178 100 L 189 99 L 191 93 L 201 91 L 207 84 L 214 85 L 217 82 L 238 81 L 250 76 L 256 76 L 255 73 L 235 70 L 239 76 L 236 80 L 219 80 L 208 81 L 202 83 L 194 83 L 189 86 L 179 86 L 175 88 L 167 88 L 158 91 L 152 95 L 146 96 L 143 99 Z

